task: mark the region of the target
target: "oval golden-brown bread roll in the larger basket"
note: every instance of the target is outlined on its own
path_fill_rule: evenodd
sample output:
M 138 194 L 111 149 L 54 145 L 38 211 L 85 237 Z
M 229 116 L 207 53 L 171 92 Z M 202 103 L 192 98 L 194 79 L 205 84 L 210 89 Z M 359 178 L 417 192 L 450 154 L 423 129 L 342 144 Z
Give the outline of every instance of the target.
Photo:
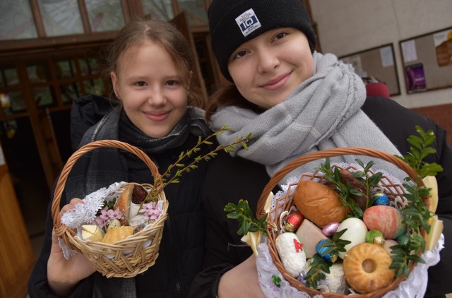
M 350 208 L 343 206 L 336 191 L 313 180 L 299 182 L 293 195 L 298 210 L 318 227 L 342 222 Z

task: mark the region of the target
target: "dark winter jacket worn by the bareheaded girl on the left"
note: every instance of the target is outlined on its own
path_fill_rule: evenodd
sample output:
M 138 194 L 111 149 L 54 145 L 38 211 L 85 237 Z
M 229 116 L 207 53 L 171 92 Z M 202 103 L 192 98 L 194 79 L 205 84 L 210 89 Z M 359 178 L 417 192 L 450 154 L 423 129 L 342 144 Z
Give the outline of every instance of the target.
M 100 102 L 104 102 L 100 100 Z M 81 112 L 83 109 L 92 113 L 95 111 L 92 100 L 78 100 L 73 107 L 74 112 Z M 100 108 L 102 115 L 105 111 L 111 109 L 105 106 L 105 110 Z M 102 112 L 104 111 L 104 112 Z M 72 133 L 74 139 L 76 136 L 82 136 L 85 130 L 98 118 L 93 116 L 84 117 L 83 112 L 80 114 L 81 119 L 73 121 Z M 91 120 L 90 120 L 91 119 Z M 80 139 L 78 139 L 78 142 Z M 119 140 L 121 141 L 121 140 Z M 165 172 L 169 165 L 177 161 L 179 154 L 191 149 L 196 145 L 198 137 L 189 135 L 187 141 L 179 148 L 167 150 L 164 153 L 153 154 L 151 159 L 155 161 L 159 167 L 160 174 Z M 134 145 L 134 144 L 131 144 Z M 203 149 L 205 152 L 207 148 Z M 109 153 L 105 153 L 109 154 Z M 126 168 L 129 181 L 137 183 L 152 183 L 153 178 L 150 170 L 146 165 L 130 153 L 121 152 L 119 159 L 105 158 L 109 162 L 105 162 L 106 168 L 111 168 L 112 164 L 120 164 Z M 83 162 L 82 162 L 83 163 Z M 108 163 L 108 164 L 107 164 Z M 115 165 L 116 166 L 116 165 Z M 178 184 L 169 184 L 165 188 L 165 194 L 169 201 L 168 217 L 165 221 L 162 242 L 160 244 L 159 256 L 155 265 L 150 267 L 145 273 L 137 275 L 135 278 L 137 297 L 186 297 L 189 285 L 194 279 L 196 273 L 202 269 L 203 261 L 203 216 L 201 213 L 201 184 L 206 174 L 208 163 L 201 162 L 198 168 L 192 170 L 189 174 L 184 174 Z M 83 176 L 83 167 L 74 167 L 71 174 Z M 69 177 L 70 179 L 70 177 Z M 115 181 L 109 181 L 114 183 Z M 105 185 L 108 186 L 108 185 Z M 63 201 L 63 200 L 61 200 Z M 64 205 L 66 202 L 62 202 Z M 37 260 L 35 268 L 29 280 L 30 297 L 53 297 L 49 292 L 47 285 L 47 259 L 49 258 L 50 248 L 52 244 L 52 215 L 49 212 L 47 216 L 46 237 L 41 255 Z M 103 288 L 105 282 L 114 282 L 115 278 L 107 280 L 100 273 L 94 273 L 89 278 L 82 280 L 71 297 L 98 297 L 93 295 L 93 289 L 96 285 L 97 290 L 102 291 L 102 297 L 119 297 L 117 292 L 109 292 L 109 289 Z M 100 286 L 99 286 L 100 285 Z

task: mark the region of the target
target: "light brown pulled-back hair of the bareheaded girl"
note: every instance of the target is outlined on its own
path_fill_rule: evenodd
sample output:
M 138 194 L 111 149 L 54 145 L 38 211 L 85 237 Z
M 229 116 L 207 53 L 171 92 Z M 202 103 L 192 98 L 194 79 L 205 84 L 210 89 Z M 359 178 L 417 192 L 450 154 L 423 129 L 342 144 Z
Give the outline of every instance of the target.
M 163 20 L 137 18 L 131 20 L 119 31 L 116 39 L 107 47 L 107 54 L 104 55 L 103 74 L 109 83 L 112 84 L 110 73 L 112 71 L 118 73 L 121 56 L 127 53 L 131 47 L 140 46 L 147 40 L 158 42 L 165 47 L 177 69 L 183 73 L 182 84 L 187 91 L 190 91 L 188 95 L 189 105 L 201 107 L 203 105 L 203 94 L 196 83 L 196 79 L 194 79 L 196 73 L 192 71 L 194 70 L 194 59 L 189 44 L 182 32 L 173 24 Z M 190 71 L 193 73 L 191 81 Z

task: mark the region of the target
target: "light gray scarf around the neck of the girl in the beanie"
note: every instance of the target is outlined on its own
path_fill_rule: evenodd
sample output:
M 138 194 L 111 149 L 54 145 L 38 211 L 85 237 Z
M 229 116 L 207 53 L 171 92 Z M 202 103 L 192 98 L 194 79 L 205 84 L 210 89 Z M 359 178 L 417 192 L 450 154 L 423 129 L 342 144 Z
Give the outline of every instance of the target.
M 300 155 L 328 148 L 360 146 L 400 155 L 362 112 L 365 99 L 364 83 L 352 66 L 338 61 L 333 54 L 314 52 L 314 75 L 300 84 L 284 102 L 261 114 L 236 106 L 223 107 L 213 114 L 211 127 L 214 130 L 223 125 L 232 127 L 231 131 L 218 136 L 222 145 L 251 132 L 254 141 L 249 144 L 249 150 L 240 148 L 232 155 L 266 165 L 270 177 Z M 356 163 L 356 158 L 366 163 L 369 160 L 376 162 L 356 155 L 331 160 L 350 164 Z M 384 167 L 374 169 L 396 171 L 399 179 L 405 177 L 396 166 L 383 163 Z M 376 162 L 377 165 L 380 164 Z M 318 166 L 319 162 L 304 165 L 287 177 L 313 172 Z

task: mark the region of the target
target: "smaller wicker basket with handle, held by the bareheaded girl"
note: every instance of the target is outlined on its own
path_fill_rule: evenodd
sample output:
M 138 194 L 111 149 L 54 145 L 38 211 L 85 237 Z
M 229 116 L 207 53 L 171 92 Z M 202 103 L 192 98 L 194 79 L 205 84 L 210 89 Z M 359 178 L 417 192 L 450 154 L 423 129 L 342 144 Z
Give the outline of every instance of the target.
M 105 275 L 107 278 L 133 278 L 134 276 L 148 270 L 150 266 L 155 264 L 158 256 L 160 240 L 162 239 L 163 227 L 167 218 L 168 201 L 165 193 L 161 191 L 157 199 L 163 201 L 163 213 L 155 223 L 145 229 L 133 234 L 132 236 L 116 242 L 114 244 L 106 244 L 102 242 L 83 242 L 78 237 L 74 237 L 76 232 L 61 223 L 60 219 L 60 199 L 64 190 L 64 184 L 69 176 L 69 172 L 79 157 L 88 153 L 90 150 L 102 147 L 114 147 L 126 150 L 139 157 L 145 165 L 148 166 L 154 179 L 160 177 L 155 164 L 150 160 L 148 155 L 142 150 L 133 147 L 127 143 L 112 140 L 95 141 L 84 145 L 78 149 L 64 165 L 61 175 L 55 187 L 54 200 L 52 202 L 52 215 L 54 218 L 54 230 L 57 236 L 61 237 L 69 247 L 81 251 L 96 267 L 97 271 Z M 150 184 L 141 184 L 145 189 L 152 187 Z M 149 246 L 148 244 L 151 240 Z

